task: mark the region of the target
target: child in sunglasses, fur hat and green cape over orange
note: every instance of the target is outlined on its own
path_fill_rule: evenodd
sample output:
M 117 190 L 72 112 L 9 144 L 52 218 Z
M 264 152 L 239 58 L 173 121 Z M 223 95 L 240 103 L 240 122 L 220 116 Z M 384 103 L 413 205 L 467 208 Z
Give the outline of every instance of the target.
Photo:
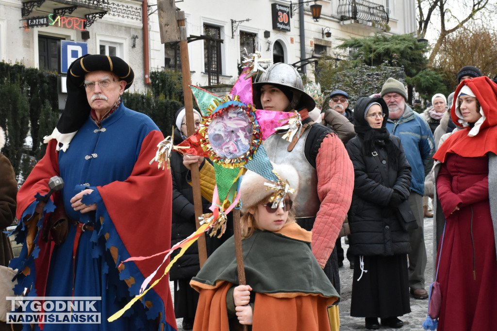
M 247 285 L 238 285 L 234 237 L 205 262 L 190 285 L 200 292 L 194 331 L 330 330 L 327 308 L 339 296 L 311 249 L 311 232 L 292 216 L 298 175 L 274 165 L 286 189 L 247 171 L 240 221 Z M 288 181 L 287 181 L 288 180 Z M 290 189 L 294 188 L 294 189 Z

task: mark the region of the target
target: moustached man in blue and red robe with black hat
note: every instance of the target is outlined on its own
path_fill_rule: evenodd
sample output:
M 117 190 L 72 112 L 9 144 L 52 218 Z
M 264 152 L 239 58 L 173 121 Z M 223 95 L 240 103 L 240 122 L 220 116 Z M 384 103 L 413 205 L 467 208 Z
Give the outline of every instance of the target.
M 99 298 L 93 311 L 101 323 L 43 323 L 45 331 L 177 329 L 168 276 L 143 303 L 108 321 L 157 267 L 152 260 L 121 261 L 170 248 L 171 173 L 149 164 L 164 136 L 151 118 L 124 105 L 133 80 L 131 67 L 115 56 L 73 62 L 65 110 L 17 194 L 16 239 L 24 245 L 10 263 L 19 270 L 15 294 Z M 47 183 L 55 176 L 64 186 L 51 194 Z M 32 327 L 39 330 L 23 330 Z

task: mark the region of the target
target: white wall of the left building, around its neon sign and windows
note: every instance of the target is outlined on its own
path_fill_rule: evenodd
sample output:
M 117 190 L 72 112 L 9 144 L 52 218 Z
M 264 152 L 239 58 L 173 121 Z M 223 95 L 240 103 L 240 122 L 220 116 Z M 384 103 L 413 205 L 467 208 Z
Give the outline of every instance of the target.
M 45 4 L 46 5 L 46 4 Z M 21 62 L 27 67 L 38 68 L 38 34 L 86 42 L 88 53 L 98 54 L 99 43 L 111 42 L 119 46 L 118 54 L 130 64 L 135 73 L 135 81 L 131 90 L 145 91 L 144 61 L 143 61 L 143 29 L 142 29 L 142 1 L 121 0 L 112 1 L 109 12 L 103 18 L 97 18 L 87 27 L 90 38 L 83 40 L 81 31 L 58 26 L 46 26 L 24 29 L 21 16 L 22 3 L 19 0 L 0 0 L 0 60 L 9 63 Z M 37 11 L 34 8 L 28 17 L 48 15 L 47 12 Z M 147 15 L 145 14 L 145 19 Z M 83 17 L 80 17 L 83 18 Z M 138 35 L 136 47 L 132 47 L 132 36 Z M 151 42 L 161 49 L 160 39 Z M 156 52 L 157 53 L 157 50 Z M 161 51 L 159 50 L 159 53 Z M 157 54 L 155 54 L 157 56 Z M 159 58 L 164 58 L 159 54 Z M 155 59 L 151 64 L 157 62 Z

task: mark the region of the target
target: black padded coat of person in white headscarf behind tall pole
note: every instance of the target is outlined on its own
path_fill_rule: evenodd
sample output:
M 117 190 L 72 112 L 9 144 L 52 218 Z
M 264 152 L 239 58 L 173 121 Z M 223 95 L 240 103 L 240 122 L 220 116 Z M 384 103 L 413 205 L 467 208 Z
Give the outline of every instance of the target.
M 181 133 L 177 128 L 174 129 L 174 145 L 181 143 Z M 208 160 L 208 159 L 205 159 Z M 210 161 L 210 160 L 209 160 Z M 188 169 L 183 165 L 183 157 L 178 152 L 172 152 L 171 158 L 172 174 L 172 225 L 171 225 L 171 246 L 190 236 L 196 231 L 195 226 L 195 207 L 193 205 L 193 189 L 186 181 Z M 207 162 L 207 161 L 204 161 Z M 202 209 L 204 213 L 210 213 L 211 203 L 202 198 Z M 226 237 L 229 237 L 229 234 Z M 224 236 L 223 236 L 224 237 Z M 224 242 L 226 238 L 222 238 Z M 212 253 L 215 246 L 220 246 L 220 241 L 206 236 L 207 253 Z M 171 259 L 179 252 L 176 249 L 171 254 Z M 198 259 L 198 246 L 193 243 L 183 256 L 171 267 L 169 279 L 176 280 L 181 278 L 191 278 L 200 270 Z

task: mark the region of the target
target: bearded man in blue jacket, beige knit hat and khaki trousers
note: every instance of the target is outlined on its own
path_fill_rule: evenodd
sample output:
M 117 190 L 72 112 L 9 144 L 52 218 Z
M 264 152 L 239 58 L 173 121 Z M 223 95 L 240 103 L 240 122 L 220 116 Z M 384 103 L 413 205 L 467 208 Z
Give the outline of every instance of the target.
M 387 129 L 399 137 L 406 152 L 406 159 L 412 167 L 411 195 L 409 204 L 416 218 L 418 228 L 410 231 L 412 251 L 409 254 L 409 286 L 415 299 L 425 299 L 424 269 L 426 248 L 423 235 L 423 193 L 424 177 L 433 165 L 435 145 L 428 123 L 406 104 L 407 91 L 404 84 L 389 78 L 381 89 L 381 96 L 388 105 Z

